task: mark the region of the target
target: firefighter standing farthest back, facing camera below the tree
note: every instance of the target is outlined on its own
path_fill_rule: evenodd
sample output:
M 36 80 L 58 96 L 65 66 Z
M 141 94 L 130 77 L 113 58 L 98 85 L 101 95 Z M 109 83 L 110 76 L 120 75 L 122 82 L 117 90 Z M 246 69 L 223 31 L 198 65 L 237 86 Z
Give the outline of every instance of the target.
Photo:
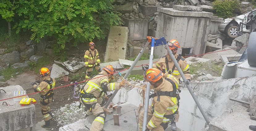
M 85 66 L 87 68 L 85 79 L 90 78 L 93 68 L 95 68 L 95 70 L 97 70 L 98 72 L 101 72 L 101 68 L 99 67 L 99 52 L 97 49 L 95 49 L 94 42 L 89 43 L 89 50 L 86 50 L 84 60 Z

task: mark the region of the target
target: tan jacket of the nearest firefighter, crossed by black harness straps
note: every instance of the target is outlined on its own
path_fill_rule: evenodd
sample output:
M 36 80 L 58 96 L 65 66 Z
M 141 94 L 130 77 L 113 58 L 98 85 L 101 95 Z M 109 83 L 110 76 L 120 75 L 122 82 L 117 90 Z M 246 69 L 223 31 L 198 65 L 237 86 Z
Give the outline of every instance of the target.
M 157 91 L 173 91 L 172 84 L 165 80 L 164 78 L 161 85 L 159 85 L 155 89 L 155 93 Z M 174 79 L 174 77 L 167 77 L 167 79 L 171 79 L 178 89 L 179 82 Z M 159 98 L 158 98 L 159 97 Z M 170 97 L 170 96 L 155 96 L 153 97 L 152 101 L 152 112 L 153 117 L 150 119 L 149 123 L 147 124 L 148 129 L 152 130 L 153 128 L 156 128 L 158 126 L 161 126 L 160 124 L 170 122 L 170 119 L 167 119 L 165 115 L 174 114 L 174 112 L 178 109 L 178 100 L 176 97 Z

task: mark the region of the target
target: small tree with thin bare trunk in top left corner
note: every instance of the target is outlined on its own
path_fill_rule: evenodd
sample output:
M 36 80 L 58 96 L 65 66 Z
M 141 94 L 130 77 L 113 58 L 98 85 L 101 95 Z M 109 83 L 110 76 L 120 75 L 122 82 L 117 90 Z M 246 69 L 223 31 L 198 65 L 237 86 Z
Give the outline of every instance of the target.
M 13 21 L 13 4 L 9 0 L 1 0 L 0 15 L 8 23 L 8 36 L 11 37 L 11 21 Z

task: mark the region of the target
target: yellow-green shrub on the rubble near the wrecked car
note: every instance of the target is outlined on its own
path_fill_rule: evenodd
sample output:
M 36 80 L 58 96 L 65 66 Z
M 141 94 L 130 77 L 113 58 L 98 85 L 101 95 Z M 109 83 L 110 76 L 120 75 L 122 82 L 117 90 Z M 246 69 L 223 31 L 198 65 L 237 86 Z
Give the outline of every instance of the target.
M 240 5 L 238 0 L 216 0 L 212 2 L 213 9 L 216 10 L 215 15 L 221 18 L 229 18 L 233 16 L 233 11 Z

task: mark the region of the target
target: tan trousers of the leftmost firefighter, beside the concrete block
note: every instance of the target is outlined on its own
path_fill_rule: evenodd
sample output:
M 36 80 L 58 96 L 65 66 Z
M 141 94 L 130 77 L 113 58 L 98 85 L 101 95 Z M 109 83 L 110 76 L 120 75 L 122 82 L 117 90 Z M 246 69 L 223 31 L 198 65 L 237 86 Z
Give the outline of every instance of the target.
M 48 113 L 49 111 L 51 111 L 49 106 L 51 101 L 52 101 L 52 98 L 45 99 L 45 100 L 40 98 L 40 107 L 42 109 L 41 111 L 44 116 L 44 121 L 48 121 L 52 118 L 51 115 Z

